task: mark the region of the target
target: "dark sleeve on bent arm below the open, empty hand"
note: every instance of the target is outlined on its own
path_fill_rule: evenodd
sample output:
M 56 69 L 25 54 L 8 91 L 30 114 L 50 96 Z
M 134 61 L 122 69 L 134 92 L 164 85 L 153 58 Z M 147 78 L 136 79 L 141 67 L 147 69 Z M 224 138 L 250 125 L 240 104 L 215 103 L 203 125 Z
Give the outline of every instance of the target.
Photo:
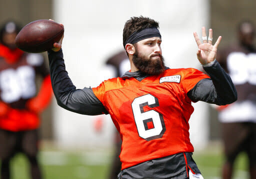
M 205 101 L 217 105 L 225 105 L 237 99 L 236 89 L 230 76 L 215 60 L 210 66 L 203 67 L 210 78 L 201 79 L 187 92 L 192 101 Z

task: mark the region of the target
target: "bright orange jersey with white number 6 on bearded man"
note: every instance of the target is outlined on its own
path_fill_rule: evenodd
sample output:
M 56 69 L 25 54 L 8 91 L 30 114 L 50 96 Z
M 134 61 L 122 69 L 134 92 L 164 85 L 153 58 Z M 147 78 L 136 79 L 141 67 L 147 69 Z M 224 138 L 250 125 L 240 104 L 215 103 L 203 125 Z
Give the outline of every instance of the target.
M 141 81 L 112 78 L 92 88 L 120 132 L 122 169 L 192 152 L 188 120 L 193 112 L 186 93 L 206 74 L 194 68 L 166 69 Z

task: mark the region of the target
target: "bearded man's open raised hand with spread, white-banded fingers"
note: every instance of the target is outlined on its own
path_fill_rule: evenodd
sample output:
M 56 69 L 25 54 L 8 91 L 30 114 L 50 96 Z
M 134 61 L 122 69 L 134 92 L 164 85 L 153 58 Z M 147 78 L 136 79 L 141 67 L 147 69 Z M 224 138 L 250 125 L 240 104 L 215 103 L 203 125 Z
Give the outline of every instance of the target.
M 197 58 L 201 64 L 207 64 L 213 61 L 216 58 L 217 47 L 220 43 L 221 36 L 218 37 L 217 41 L 214 45 L 212 45 L 212 29 L 209 29 L 209 36 L 207 40 L 205 27 L 202 27 L 202 43 L 196 32 L 193 32 L 195 42 L 198 46 L 198 50 L 196 52 Z M 208 42 L 207 42 L 208 41 Z

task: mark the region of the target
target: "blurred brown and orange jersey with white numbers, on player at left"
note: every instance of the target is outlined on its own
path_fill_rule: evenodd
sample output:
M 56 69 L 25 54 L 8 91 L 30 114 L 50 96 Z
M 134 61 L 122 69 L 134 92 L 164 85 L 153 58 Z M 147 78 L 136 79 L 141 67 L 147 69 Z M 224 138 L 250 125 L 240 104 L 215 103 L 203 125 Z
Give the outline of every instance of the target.
M 36 74 L 43 80 L 36 92 Z M 0 44 L 0 128 L 9 131 L 39 127 L 39 113 L 52 95 L 43 56 Z

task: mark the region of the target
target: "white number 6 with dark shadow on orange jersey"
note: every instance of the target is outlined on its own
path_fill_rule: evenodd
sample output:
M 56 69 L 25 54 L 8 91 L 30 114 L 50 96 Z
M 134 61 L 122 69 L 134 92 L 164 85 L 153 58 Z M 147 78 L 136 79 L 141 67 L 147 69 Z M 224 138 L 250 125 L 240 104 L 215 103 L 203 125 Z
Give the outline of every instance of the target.
M 138 135 L 145 140 L 160 138 L 165 132 L 162 114 L 153 109 L 144 111 L 143 107 L 146 105 L 149 107 L 159 106 L 158 99 L 151 94 L 145 94 L 136 97 L 131 103 Z M 151 128 L 148 128 L 148 122 L 151 122 Z

